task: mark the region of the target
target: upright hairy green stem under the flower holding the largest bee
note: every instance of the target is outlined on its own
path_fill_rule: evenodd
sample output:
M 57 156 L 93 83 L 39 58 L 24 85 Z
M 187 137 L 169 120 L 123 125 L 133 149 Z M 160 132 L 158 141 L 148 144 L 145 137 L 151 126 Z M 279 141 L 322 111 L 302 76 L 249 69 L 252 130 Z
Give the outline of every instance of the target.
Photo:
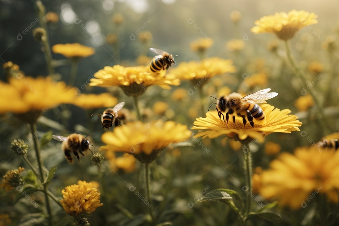
M 250 151 L 250 146 L 246 144 L 246 148 L 243 149 L 243 158 L 244 158 L 244 172 L 245 172 L 245 184 L 246 184 L 246 203 L 245 203 L 245 216 L 250 212 L 251 207 L 251 194 L 252 194 L 252 156 Z

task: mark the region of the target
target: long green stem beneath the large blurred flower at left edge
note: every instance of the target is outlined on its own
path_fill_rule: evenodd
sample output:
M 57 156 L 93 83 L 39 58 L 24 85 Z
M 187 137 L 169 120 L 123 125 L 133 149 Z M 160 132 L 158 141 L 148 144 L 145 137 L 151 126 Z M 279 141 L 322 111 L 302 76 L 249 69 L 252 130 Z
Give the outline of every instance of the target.
M 35 132 L 37 131 L 37 125 L 36 123 L 32 123 L 29 124 L 30 128 L 31 128 L 31 133 L 35 134 Z M 44 188 L 44 194 L 45 194 L 45 202 L 46 202 L 46 209 L 47 209 L 47 214 L 48 214 L 48 218 L 50 219 L 50 221 L 48 221 L 49 225 L 52 225 L 52 210 L 51 210 L 51 206 L 49 205 L 49 199 L 48 199 L 48 194 L 47 194 L 47 184 L 44 184 L 45 178 L 44 178 L 44 174 L 43 174 L 43 164 L 42 164 L 42 159 L 40 156 L 40 146 L 39 146 L 39 140 L 38 140 L 38 136 L 33 136 L 33 142 L 34 142 L 34 149 L 35 149 L 35 155 L 37 157 L 37 162 L 38 162 L 38 166 L 39 166 L 39 173 L 40 173 L 40 180 L 41 183 L 43 183 L 43 188 Z

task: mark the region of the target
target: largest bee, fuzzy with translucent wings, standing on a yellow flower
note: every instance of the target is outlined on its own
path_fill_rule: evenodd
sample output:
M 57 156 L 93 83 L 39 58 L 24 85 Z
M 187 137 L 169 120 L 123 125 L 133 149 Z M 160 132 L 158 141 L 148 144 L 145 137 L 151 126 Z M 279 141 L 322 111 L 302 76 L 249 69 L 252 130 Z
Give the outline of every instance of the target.
M 237 113 L 237 116 L 242 117 L 242 122 L 244 123 L 244 126 L 246 125 L 246 117 L 248 122 L 252 127 L 254 127 L 253 119 L 257 120 L 263 120 L 265 118 L 263 110 L 259 107 L 258 104 L 260 103 L 266 103 L 265 100 L 271 99 L 275 96 L 277 96 L 277 93 L 268 93 L 271 89 L 262 89 L 259 90 L 253 94 L 249 94 L 245 97 L 241 97 L 238 93 L 231 93 L 227 97 L 221 96 L 219 99 L 217 99 L 217 103 L 212 103 L 210 107 L 213 104 L 216 104 L 216 109 L 218 111 L 218 116 L 221 119 L 221 116 L 225 122 L 225 118 L 223 113 L 226 112 L 226 122 L 228 123 L 228 119 L 230 115 L 232 115 L 234 112 Z M 212 96 L 211 96 L 212 97 Z M 210 108 L 208 108 L 210 110 Z M 208 112 L 208 111 L 207 111 Z M 233 115 L 233 123 L 235 123 L 235 116 Z

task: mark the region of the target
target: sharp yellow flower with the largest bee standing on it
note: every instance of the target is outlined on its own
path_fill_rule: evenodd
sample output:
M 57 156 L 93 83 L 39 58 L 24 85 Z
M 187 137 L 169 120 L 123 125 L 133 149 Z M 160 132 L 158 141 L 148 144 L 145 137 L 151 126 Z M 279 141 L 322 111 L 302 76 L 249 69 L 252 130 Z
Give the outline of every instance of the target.
M 291 133 L 291 131 L 299 131 L 301 122 L 297 120 L 295 115 L 288 115 L 291 110 L 281 110 L 274 108 L 270 104 L 262 104 L 261 109 L 264 111 L 264 120 L 254 119 L 254 127 L 250 123 L 246 123 L 244 126 L 242 117 L 235 115 L 235 123 L 230 119 L 224 122 L 223 119 L 219 119 L 217 111 L 211 111 L 206 113 L 206 118 L 197 118 L 193 123 L 192 129 L 206 129 L 206 131 L 197 133 L 194 137 L 203 138 L 217 138 L 222 135 L 239 140 L 243 142 L 247 138 L 257 139 L 259 142 L 263 142 L 264 137 L 273 132 Z

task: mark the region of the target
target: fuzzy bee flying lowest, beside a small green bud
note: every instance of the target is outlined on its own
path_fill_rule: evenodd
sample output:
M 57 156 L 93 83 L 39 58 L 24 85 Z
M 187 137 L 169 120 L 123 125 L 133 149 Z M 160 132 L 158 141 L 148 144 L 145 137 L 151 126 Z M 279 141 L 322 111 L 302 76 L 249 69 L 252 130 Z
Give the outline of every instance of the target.
M 92 133 L 94 134 L 94 133 Z M 90 135 L 92 135 L 90 134 Z M 88 135 L 89 136 L 89 135 Z M 86 137 L 88 137 L 86 136 Z M 73 163 L 73 158 L 71 156 L 71 152 L 77 157 L 78 161 L 80 162 L 80 156 L 79 153 L 83 156 L 84 153 L 83 151 L 89 150 L 92 152 L 91 149 L 89 149 L 89 142 L 86 139 L 86 137 L 82 136 L 79 133 L 73 133 L 69 135 L 68 137 L 63 137 L 63 136 L 57 136 L 57 135 L 52 135 L 52 137 L 57 140 L 57 141 L 62 141 L 62 150 L 65 153 L 65 157 L 68 160 L 69 163 Z M 78 153 L 79 152 L 79 153 Z M 93 152 L 92 152 L 93 154 Z

